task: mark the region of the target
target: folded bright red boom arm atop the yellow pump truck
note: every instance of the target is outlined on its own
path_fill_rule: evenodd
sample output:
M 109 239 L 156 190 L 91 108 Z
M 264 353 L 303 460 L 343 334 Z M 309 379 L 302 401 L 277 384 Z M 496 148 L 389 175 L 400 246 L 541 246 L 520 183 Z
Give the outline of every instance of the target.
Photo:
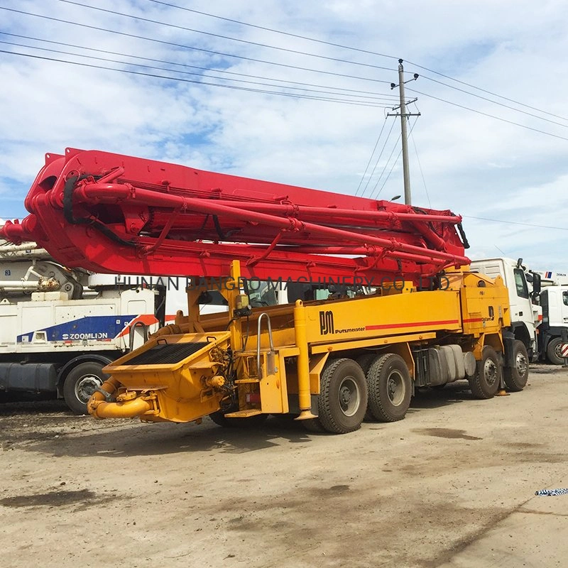
M 93 272 L 219 277 L 236 259 L 246 278 L 378 282 L 469 263 L 449 211 L 100 151 L 47 154 L 25 204 L 0 235 Z

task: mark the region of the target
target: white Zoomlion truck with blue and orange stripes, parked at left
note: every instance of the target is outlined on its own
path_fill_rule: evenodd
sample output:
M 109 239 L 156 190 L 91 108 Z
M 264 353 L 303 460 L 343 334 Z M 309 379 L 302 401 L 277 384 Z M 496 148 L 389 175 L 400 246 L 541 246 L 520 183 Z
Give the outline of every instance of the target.
M 91 278 L 35 243 L 0 243 L 0 391 L 57 394 L 85 414 L 102 368 L 163 322 L 163 293 Z

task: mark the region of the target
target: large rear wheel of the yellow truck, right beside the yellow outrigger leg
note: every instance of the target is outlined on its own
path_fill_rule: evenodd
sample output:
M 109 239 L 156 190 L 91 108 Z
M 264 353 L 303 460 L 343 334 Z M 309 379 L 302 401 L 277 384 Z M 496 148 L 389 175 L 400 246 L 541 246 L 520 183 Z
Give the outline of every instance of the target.
M 320 377 L 318 418 L 327 432 L 359 430 L 367 409 L 367 383 L 353 359 L 330 361 Z

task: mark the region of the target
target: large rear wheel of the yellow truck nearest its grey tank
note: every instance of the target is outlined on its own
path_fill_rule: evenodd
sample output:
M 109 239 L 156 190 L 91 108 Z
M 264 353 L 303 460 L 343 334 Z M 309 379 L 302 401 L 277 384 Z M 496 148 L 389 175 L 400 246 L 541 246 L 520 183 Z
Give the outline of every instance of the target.
M 405 360 L 388 353 L 377 357 L 367 373 L 368 409 L 375 420 L 403 420 L 410 406 L 412 381 Z

